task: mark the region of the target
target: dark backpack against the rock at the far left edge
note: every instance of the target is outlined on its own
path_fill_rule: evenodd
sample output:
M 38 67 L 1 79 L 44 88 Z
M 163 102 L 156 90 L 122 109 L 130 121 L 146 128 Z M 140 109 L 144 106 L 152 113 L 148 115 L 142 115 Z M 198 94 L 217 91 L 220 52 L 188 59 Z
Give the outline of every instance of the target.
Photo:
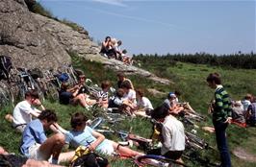
M 12 58 L 0 56 L 0 80 L 8 80 L 9 73 L 13 67 Z

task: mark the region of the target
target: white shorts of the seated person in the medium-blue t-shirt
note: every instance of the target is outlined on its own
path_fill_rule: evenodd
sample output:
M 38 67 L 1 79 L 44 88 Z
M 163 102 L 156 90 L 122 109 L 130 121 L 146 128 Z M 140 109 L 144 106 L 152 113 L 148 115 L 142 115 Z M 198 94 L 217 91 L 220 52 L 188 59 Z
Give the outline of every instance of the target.
M 46 157 L 39 151 L 39 147 L 40 144 L 38 143 L 35 143 L 34 145 L 30 146 L 28 157 L 36 160 L 48 160 L 48 157 Z

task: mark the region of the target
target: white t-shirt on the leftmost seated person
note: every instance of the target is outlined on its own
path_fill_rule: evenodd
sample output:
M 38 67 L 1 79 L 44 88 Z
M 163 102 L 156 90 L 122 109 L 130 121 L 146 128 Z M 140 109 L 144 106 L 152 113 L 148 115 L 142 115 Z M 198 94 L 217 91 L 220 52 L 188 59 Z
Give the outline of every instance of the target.
M 28 101 L 19 102 L 13 109 L 13 127 L 20 124 L 28 124 L 32 121 L 32 112 L 39 112 L 36 107 L 32 107 Z

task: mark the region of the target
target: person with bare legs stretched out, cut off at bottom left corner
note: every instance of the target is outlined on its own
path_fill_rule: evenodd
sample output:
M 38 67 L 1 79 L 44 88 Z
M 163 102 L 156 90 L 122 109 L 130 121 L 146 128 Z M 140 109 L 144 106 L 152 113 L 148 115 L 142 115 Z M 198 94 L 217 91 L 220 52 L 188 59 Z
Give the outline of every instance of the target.
M 0 166 L 4 167 L 61 167 L 59 165 L 50 164 L 45 160 L 29 159 L 21 155 L 9 154 L 0 146 Z

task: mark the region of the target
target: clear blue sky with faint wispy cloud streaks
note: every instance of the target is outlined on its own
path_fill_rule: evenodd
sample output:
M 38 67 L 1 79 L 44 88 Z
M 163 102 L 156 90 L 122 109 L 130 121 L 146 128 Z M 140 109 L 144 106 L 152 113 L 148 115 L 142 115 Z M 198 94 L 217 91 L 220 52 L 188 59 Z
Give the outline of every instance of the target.
M 122 40 L 130 54 L 256 52 L 254 0 L 38 0 L 96 41 Z

